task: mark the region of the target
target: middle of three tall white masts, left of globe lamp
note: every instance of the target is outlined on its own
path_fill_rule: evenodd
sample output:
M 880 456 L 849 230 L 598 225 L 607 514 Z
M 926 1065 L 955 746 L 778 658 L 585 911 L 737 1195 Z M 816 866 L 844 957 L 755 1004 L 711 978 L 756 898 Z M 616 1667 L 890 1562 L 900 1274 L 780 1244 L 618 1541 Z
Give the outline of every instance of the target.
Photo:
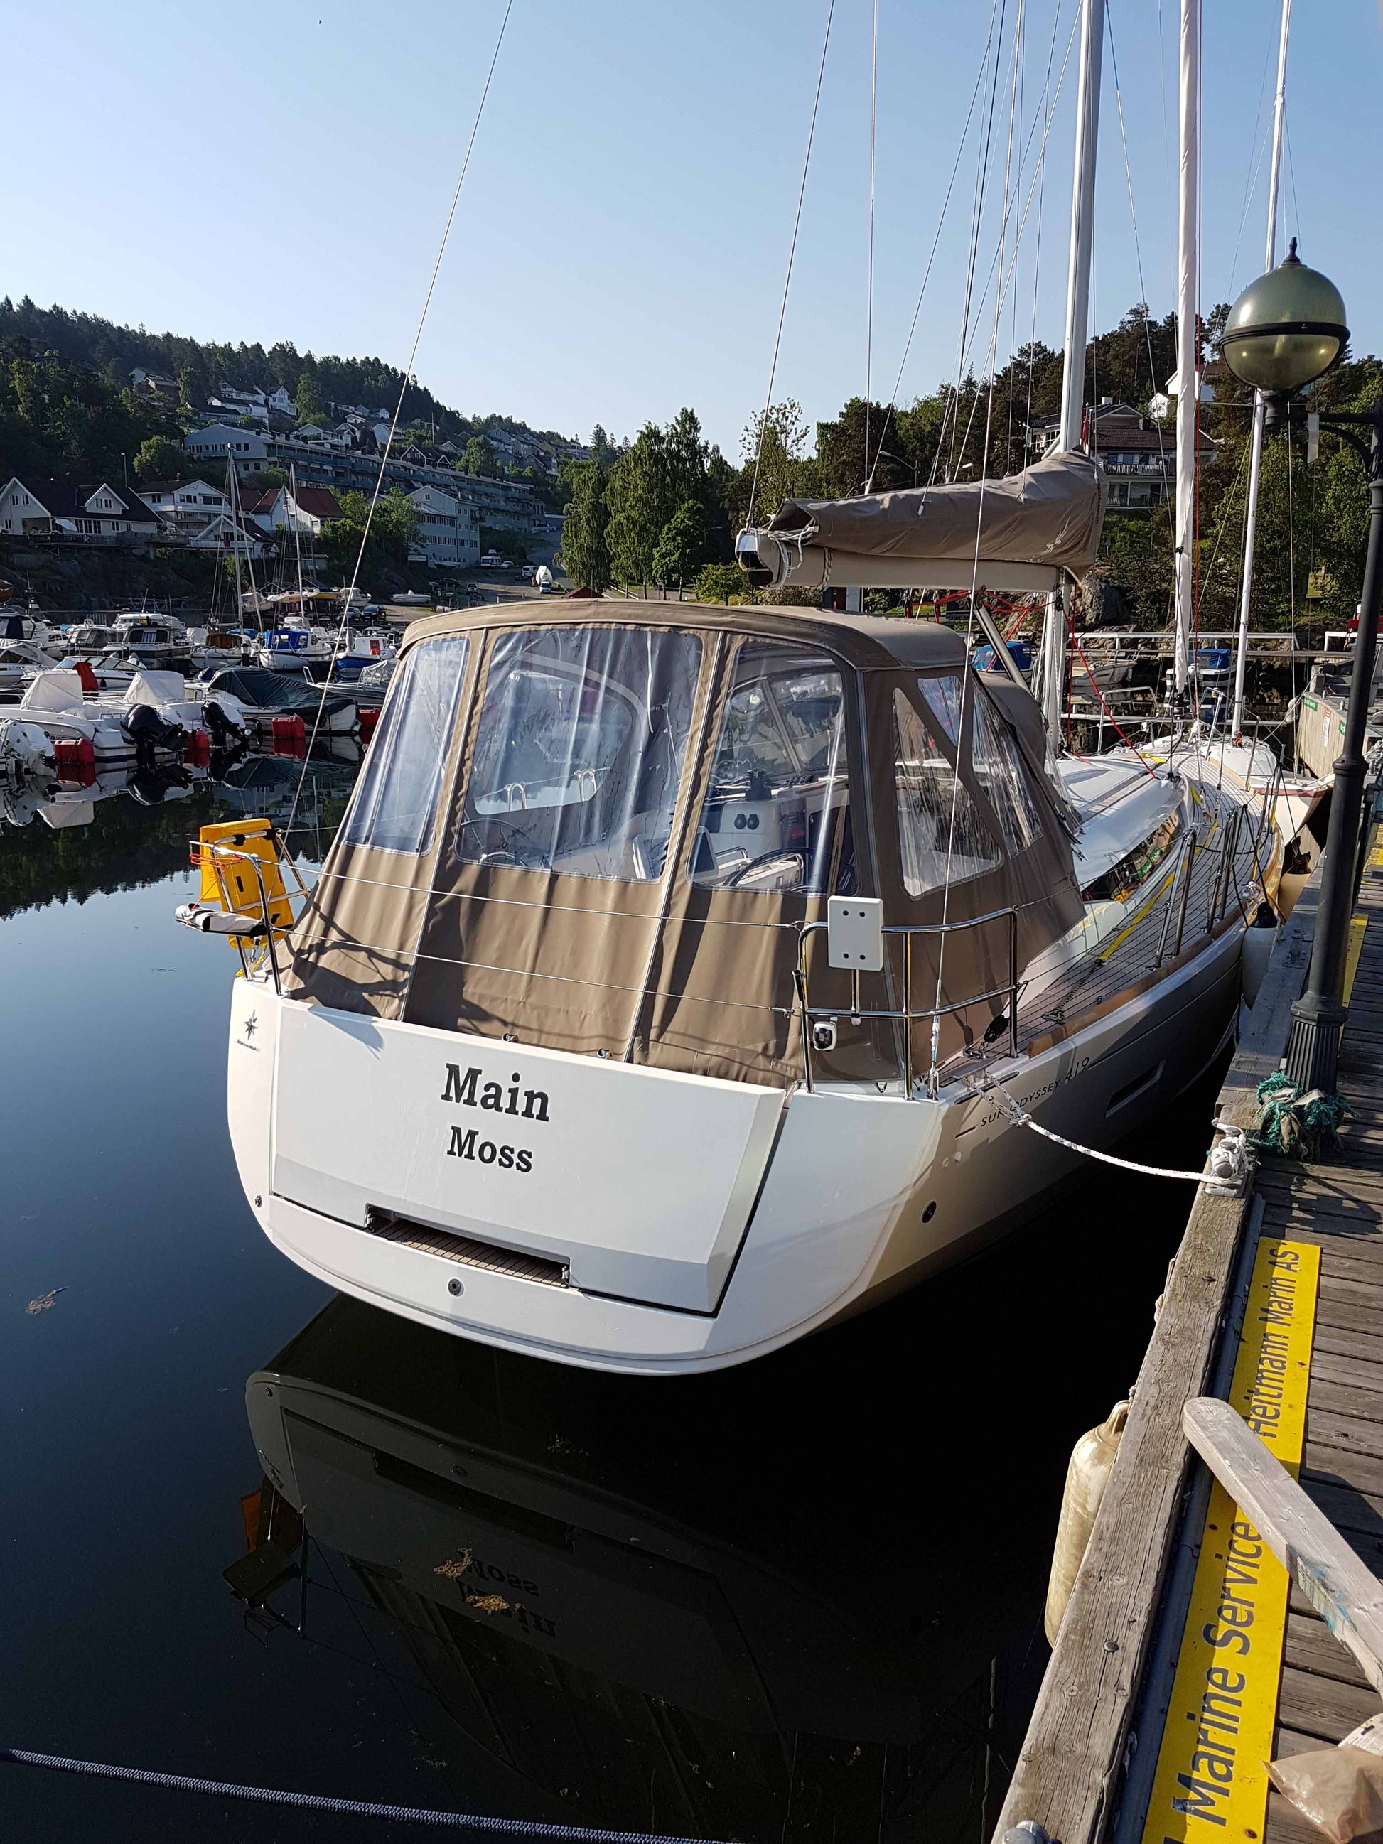
M 1176 692 L 1191 673 L 1195 590 L 1197 284 L 1200 256 L 1200 0 L 1182 0 L 1180 207 L 1176 212 Z

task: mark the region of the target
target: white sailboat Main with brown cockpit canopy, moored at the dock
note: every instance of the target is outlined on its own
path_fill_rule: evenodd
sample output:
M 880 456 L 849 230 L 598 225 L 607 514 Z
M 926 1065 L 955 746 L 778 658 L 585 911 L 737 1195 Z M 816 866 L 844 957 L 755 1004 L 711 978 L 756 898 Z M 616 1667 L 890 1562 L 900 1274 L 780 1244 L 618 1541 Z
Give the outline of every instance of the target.
M 789 500 L 739 537 L 758 581 L 1047 592 L 1064 655 L 1106 502 L 1077 446 L 1099 0 L 1081 55 L 1064 444 Z M 1184 266 L 1193 238 L 1184 205 Z M 1280 841 L 1193 754 L 1058 754 L 939 623 L 629 599 L 415 621 L 315 885 L 266 859 L 208 837 L 223 913 L 183 915 L 242 953 L 266 1235 L 406 1318 L 679 1376 L 957 1261 L 1193 1082 Z

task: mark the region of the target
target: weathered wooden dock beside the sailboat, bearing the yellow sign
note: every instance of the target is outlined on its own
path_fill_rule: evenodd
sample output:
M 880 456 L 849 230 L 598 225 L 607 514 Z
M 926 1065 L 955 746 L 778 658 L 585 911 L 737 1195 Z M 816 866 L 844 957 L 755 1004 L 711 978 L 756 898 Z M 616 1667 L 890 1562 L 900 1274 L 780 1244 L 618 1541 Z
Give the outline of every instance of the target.
M 1182 1431 L 1191 1398 L 1228 1398 L 1383 1578 L 1377 841 L 1350 948 L 1341 1152 L 1259 1152 L 1245 1197 L 1197 1193 L 996 1844 L 1020 1820 L 1060 1844 L 1318 1840 L 1267 1761 L 1333 1744 L 1383 1704 Z M 1278 935 L 1221 1090 L 1230 1123 L 1258 1123 L 1258 1084 L 1285 1057 L 1318 881 Z

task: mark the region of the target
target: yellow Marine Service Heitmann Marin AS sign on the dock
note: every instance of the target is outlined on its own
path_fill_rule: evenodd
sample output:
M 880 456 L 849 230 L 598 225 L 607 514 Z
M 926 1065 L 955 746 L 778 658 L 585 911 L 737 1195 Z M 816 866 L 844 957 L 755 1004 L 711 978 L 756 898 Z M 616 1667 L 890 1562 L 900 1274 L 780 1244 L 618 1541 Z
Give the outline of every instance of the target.
M 1263 1237 L 1230 1401 L 1296 1477 L 1306 1435 L 1320 1250 Z M 1289 1578 L 1212 1483 L 1143 1844 L 1261 1838 Z

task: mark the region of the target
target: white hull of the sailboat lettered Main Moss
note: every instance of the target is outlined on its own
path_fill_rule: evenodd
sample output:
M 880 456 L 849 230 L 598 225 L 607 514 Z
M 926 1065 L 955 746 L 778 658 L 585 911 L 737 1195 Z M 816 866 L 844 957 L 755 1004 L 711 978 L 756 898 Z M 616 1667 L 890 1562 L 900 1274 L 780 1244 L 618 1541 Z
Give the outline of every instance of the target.
M 1228 1040 L 1241 937 L 1224 928 L 992 1073 L 1044 1127 L 1114 1145 Z M 491 1112 L 472 1112 L 491 1081 Z M 550 1119 L 524 1112 L 529 1092 L 551 1097 Z M 644 1376 L 745 1363 L 872 1306 L 1003 1234 L 1082 1164 L 1012 1125 L 992 1090 L 786 1095 L 330 1012 L 243 977 L 229 1116 L 260 1226 L 328 1285 L 503 1350 Z M 500 1265 L 376 1234 L 371 1208 L 411 1217 L 424 1241 L 483 1243 Z M 507 1272 L 505 1254 L 562 1280 Z

